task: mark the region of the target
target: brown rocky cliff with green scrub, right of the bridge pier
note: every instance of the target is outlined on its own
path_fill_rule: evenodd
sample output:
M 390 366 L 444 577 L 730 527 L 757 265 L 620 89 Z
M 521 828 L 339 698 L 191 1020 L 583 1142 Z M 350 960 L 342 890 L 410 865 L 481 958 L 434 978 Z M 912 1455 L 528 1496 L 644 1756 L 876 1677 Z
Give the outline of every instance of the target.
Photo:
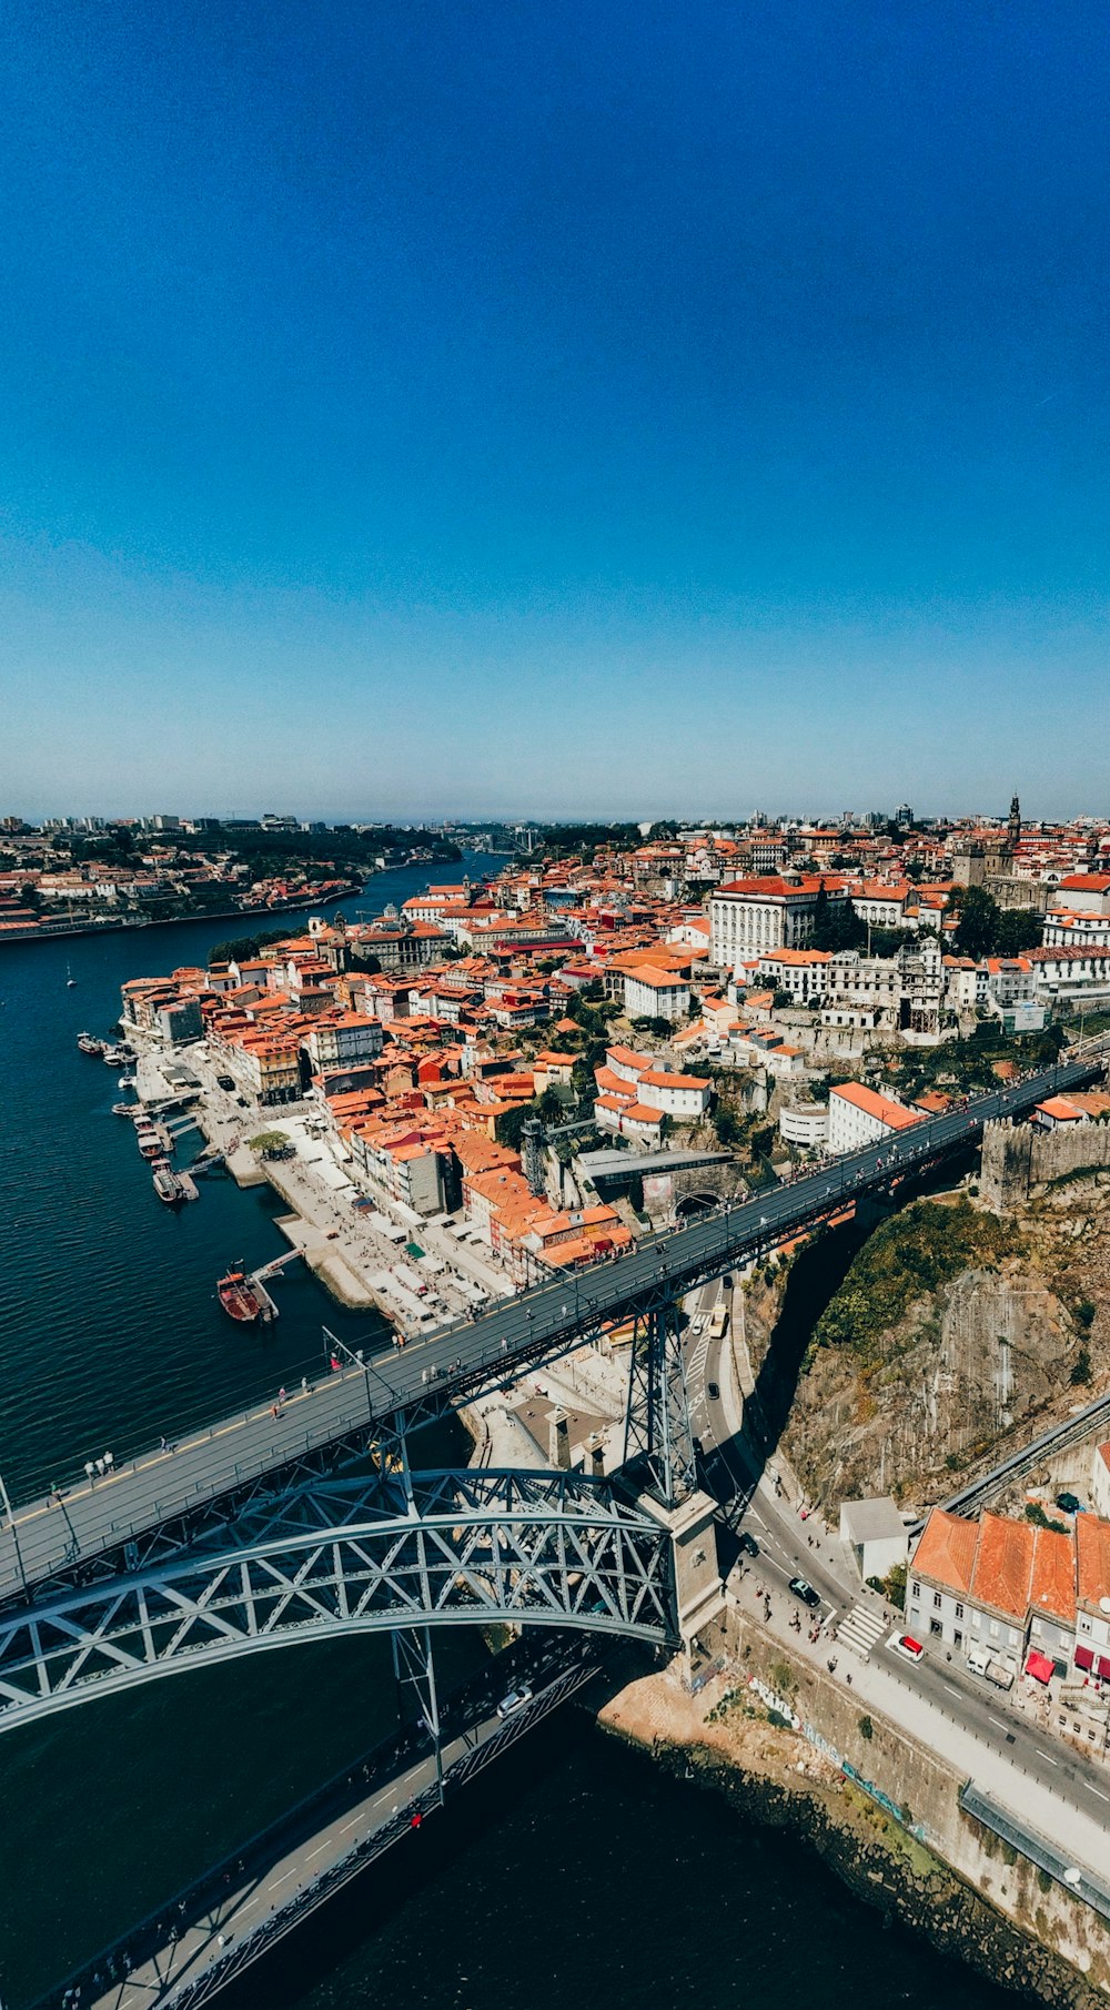
M 1110 1383 L 1108 1300 L 1098 1182 L 1007 1218 L 963 1196 L 919 1202 L 863 1244 L 816 1323 L 784 1449 L 832 1510 L 953 1493 Z

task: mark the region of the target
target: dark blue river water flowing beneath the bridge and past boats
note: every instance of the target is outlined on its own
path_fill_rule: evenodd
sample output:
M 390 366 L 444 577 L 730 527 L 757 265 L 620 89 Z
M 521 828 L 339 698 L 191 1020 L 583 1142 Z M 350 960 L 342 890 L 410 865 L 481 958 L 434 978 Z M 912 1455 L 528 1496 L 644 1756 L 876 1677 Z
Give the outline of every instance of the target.
M 430 876 L 372 880 L 378 909 Z M 362 902 L 360 902 L 362 904 Z M 348 904 L 354 911 L 354 902 Z M 290 931 L 298 917 L 288 917 Z M 0 951 L 0 1471 L 12 1497 L 123 1457 L 322 1365 L 344 1313 L 300 1264 L 282 1317 L 233 1327 L 215 1278 L 288 1246 L 267 1188 L 207 1180 L 171 1214 L 117 1075 L 76 1051 L 107 1033 L 127 977 L 197 963 L 235 923 L 183 923 Z M 66 969 L 76 979 L 66 987 Z M 197 1140 L 199 1144 L 199 1140 Z M 179 1148 L 179 1162 L 187 1152 Z M 436 1461 L 444 1447 L 436 1447 Z M 462 1433 L 452 1455 L 465 1455 Z M 446 1632 L 440 1680 L 481 1654 Z M 0 2002 L 20 2010 L 394 1723 L 380 1642 L 304 1646 L 153 1682 L 0 1741 Z M 278 1970 L 278 1972 L 275 1972 Z M 792 2010 L 835 2004 L 995 2010 L 1001 2000 L 901 1932 L 883 1932 L 816 1859 L 601 1741 L 575 1713 L 326 1907 L 241 2000 L 304 2010 Z

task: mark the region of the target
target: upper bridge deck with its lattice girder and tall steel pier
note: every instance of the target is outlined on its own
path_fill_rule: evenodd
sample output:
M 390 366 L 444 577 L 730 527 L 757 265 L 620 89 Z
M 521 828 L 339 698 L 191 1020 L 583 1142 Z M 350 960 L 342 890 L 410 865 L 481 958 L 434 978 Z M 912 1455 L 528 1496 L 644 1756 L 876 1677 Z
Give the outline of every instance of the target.
M 915 1124 L 897 1140 L 883 1140 L 688 1228 L 648 1238 L 625 1256 L 438 1329 L 402 1353 L 360 1361 L 306 1399 L 294 1395 L 280 1417 L 257 1411 L 225 1419 L 173 1449 L 135 1459 L 107 1479 L 8 1510 L 0 1524 L 0 1622 L 6 1618 L 12 1638 L 22 1638 L 26 1648 L 32 1636 L 20 1634 L 20 1628 L 30 1628 L 70 1600 L 76 1610 L 84 1596 L 84 1610 L 92 1610 L 90 1600 L 103 1586 L 153 1582 L 151 1574 L 177 1562 L 185 1570 L 195 1568 L 213 1550 L 231 1556 L 241 1542 L 233 1532 L 243 1518 L 271 1514 L 284 1495 L 298 1497 L 300 1489 L 316 1489 L 322 1497 L 322 1481 L 390 1439 L 400 1443 L 400 1465 L 408 1473 L 406 1431 L 440 1417 L 509 1371 L 553 1359 L 619 1319 L 637 1323 L 625 1461 L 639 1465 L 648 1491 L 676 1505 L 696 1483 L 676 1294 L 720 1276 L 760 1248 L 835 1218 L 849 1200 L 887 1188 L 891 1178 L 977 1144 L 991 1118 L 1020 1116 L 1044 1095 L 1090 1079 L 1104 1051 L 1106 1041 L 1090 1041 L 1080 1057 L 981 1095 L 969 1108 Z M 412 1518 L 418 1512 L 408 1501 L 406 1514 Z M 487 1514 L 493 1526 L 497 1503 Z M 404 1624 L 400 1610 L 394 1624 Z M 424 1612 L 424 1606 L 418 1610 Z M 583 1620 L 571 1620 L 567 1612 L 565 1622 Z M 46 1662 L 38 1648 L 28 1652 L 40 1668 L 40 1694 L 46 1694 Z M 107 1678 L 103 1674 L 101 1692 Z

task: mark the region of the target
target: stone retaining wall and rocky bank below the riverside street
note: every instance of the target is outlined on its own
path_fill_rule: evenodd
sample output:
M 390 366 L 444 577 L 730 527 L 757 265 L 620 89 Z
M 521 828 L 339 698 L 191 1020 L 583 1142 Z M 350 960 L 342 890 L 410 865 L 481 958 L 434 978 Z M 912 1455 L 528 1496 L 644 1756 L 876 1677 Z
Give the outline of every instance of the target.
M 629 1682 L 599 1713 L 601 1729 L 742 1813 L 796 1829 L 863 1899 L 993 1982 L 1054 2010 L 1106 2000 L 1110 1926 L 971 1821 L 963 1779 L 943 1759 L 861 1713 L 744 1614 L 730 1650 L 732 1672 L 698 1696 L 672 1670 Z

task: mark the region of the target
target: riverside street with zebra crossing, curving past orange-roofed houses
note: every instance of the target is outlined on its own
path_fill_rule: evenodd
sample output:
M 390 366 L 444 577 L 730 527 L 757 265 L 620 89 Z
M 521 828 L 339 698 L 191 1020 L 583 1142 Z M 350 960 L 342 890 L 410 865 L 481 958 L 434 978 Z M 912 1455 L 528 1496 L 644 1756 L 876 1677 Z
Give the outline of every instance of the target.
M 694 1363 L 690 1361 L 690 1367 Z M 800 1520 L 800 1503 L 778 1489 L 774 1463 L 764 1461 L 742 1429 L 740 1395 L 734 1381 L 728 1339 L 714 1343 L 704 1355 L 704 1381 L 716 1381 L 722 1395 L 704 1403 L 702 1435 L 704 1473 L 722 1503 L 738 1503 L 734 1526 L 756 1536 L 760 1554 L 744 1562 L 742 1600 L 762 1610 L 756 1586 L 770 1594 L 772 1626 L 784 1632 L 796 1652 L 812 1652 L 814 1660 L 837 1658 L 839 1676 L 853 1676 L 859 1694 L 871 1694 L 895 1723 L 923 1739 L 953 1765 L 967 1767 L 981 1783 L 989 1777 L 991 1791 L 1003 1805 L 1030 1813 L 1030 1789 L 1040 1789 L 1040 1827 L 1056 1837 L 1064 1851 L 1080 1855 L 1086 1839 L 1092 1869 L 1106 1853 L 1106 1823 L 1110 1821 L 1110 1771 L 1074 1755 L 1060 1739 L 1032 1725 L 997 1690 L 977 1682 L 959 1662 L 927 1652 L 917 1664 L 905 1662 L 887 1644 L 899 1614 L 861 1588 L 859 1578 L 839 1542 L 816 1526 Z M 690 1389 L 692 1403 L 700 1391 Z M 810 1616 L 790 1596 L 792 1576 L 806 1578 L 820 1594 L 824 1632 L 816 1648 L 808 1648 Z M 828 1624 L 841 1626 L 859 1606 L 887 1614 L 881 1644 L 863 1664 L 841 1642 L 826 1638 Z M 802 1630 L 790 1628 L 798 1612 Z M 1048 1823 L 1048 1827 L 1046 1827 Z M 1092 1827 L 1094 1825 L 1094 1827 Z M 1096 1843 L 1096 1833 L 1100 1841 Z

